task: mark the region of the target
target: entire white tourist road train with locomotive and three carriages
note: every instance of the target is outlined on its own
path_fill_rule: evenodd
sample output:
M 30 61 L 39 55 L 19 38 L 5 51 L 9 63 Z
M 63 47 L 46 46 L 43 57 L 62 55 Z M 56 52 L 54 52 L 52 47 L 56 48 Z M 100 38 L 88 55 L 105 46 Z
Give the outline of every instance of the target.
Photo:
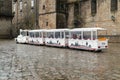
M 81 50 L 101 51 L 108 48 L 104 28 L 38 29 L 22 30 L 16 43 L 68 47 Z

